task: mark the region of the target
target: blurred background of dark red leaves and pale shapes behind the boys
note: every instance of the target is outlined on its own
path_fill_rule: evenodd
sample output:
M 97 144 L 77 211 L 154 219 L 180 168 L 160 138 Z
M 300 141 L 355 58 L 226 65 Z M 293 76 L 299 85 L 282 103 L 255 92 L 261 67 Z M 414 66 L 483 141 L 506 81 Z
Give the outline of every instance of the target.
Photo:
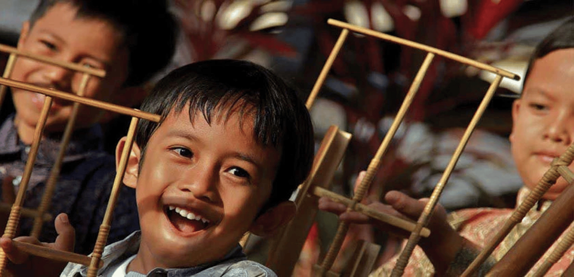
M 0 1 L 0 43 L 15 46 L 36 0 Z M 534 45 L 574 14 L 572 0 L 173 0 L 181 32 L 173 68 L 205 59 L 246 59 L 272 68 L 307 98 L 340 29 L 328 18 L 444 49 L 522 75 Z M 426 53 L 351 34 L 335 60 L 311 114 L 317 144 L 329 125 L 353 134 L 334 180 L 350 195 L 393 121 Z M 0 68 L 7 56 L 0 54 Z M 164 72 L 164 74 L 165 74 Z M 161 78 L 157 76 L 156 80 Z M 430 195 L 493 77 L 435 58 L 406 120 L 383 159 L 369 198 L 402 190 Z M 150 83 L 148 87 L 153 86 Z M 510 154 L 510 107 L 521 82 L 505 80 L 449 179 L 440 202 L 463 207 L 513 207 L 522 186 Z M 10 113 L 5 101 L 1 113 Z M 127 126 L 106 127 L 108 147 Z M 316 259 L 335 232 L 336 217 L 320 214 L 307 245 Z M 354 233 L 353 233 L 354 232 Z M 357 229 L 350 236 L 385 244 L 386 234 Z M 384 247 L 383 247 L 384 248 Z M 254 249 L 257 249 L 255 247 Z M 309 250 L 311 249 L 311 250 Z M 256 258 L 257 251 L 252 252 Z M 385 253 L 381 254 L 385 259 Z

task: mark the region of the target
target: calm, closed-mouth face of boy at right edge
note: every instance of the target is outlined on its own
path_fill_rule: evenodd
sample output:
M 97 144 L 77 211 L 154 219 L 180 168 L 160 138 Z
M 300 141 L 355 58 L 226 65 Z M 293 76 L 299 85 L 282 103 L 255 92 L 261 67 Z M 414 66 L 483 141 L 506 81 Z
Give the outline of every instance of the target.
M 574 139 L 574 48 L 534 62 L 512 115 L 512 154 L 525 185 L 534 188 Z M 555 199 L 567 185 L 559 178 L 544 197 Z

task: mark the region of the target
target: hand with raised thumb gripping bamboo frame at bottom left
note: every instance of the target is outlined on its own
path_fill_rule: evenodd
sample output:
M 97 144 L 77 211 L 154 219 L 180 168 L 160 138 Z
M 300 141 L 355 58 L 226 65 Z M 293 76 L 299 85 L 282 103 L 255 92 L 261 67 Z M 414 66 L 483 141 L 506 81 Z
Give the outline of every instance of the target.
M 58 233 L 54 243 L 40 243 L 34 237 L 17 237 L 14 240 L 73 252 L 75 230 L 69 224 L 67 214 L 59 214 L 54 224 Z M 60 272 L 66 266 L 65 262 L 30 256 L 28 253 L 19 251 L 12 243 L 12 240 L 6 237 L 0 238 L 0 247 L 2 247 L 2 250 L 11 261 L 6 268 L 9 276 L 60 276 Z

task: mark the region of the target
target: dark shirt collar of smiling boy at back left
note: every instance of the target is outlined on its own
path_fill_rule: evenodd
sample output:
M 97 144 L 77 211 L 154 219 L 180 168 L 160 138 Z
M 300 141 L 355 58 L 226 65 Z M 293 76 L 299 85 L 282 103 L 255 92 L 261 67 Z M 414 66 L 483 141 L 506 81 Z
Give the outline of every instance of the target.
M 62 133 L 55 133 L 42 139 L 36 163 L 48 165 L 54 163 L 60 148 L 61 136 Z M 24 144 L 18 138 L 18 131 L 14 126 L 14 114 L 11 114 L 0 127 L 0 155 L 26 151 L 26 147 L 29 145 Z M 103 132 L 99 124 L 89 128 L 77 129 L 72 133 L 68 143 L 64 162 L 79 160 L 91 155 L 90 152 L 102 150 Z

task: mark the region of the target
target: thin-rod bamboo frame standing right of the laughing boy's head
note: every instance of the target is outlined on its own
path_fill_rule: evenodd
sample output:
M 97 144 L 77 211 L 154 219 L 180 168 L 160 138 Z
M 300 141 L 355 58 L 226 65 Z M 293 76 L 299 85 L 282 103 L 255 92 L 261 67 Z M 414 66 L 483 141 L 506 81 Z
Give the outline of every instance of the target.
M 367 189 L 370 186 L 370 183 L 373 181 L 374 174 L 380 166 L 381 157 L 386 152 L 386 149 L 389 146 L 390 140 L 393 138 L 396 130 L 398 129 L 398 126 L 401 124 L 401 121 L 404 119 L 404 116 L 406 114 L 406 110 L 408 110 L 408 107 L 409 107 L 410 103 L 412 102 L 414 95 L 416 95 L 418 87 L 420 87 L 422 79 L 424 78 L 424 76 L 426 74 L 426 70 L 428 70 L 430 63 L 432 62 L 432 59 L 435 55 L 443 56 L 443 57 L 446 57 L 448 59 L 458 61 L 459 63 L 467 64 L 468 66 L 474 66 L 474 67 L 477 67 L 477 68 L 482 69 L 482 70 L 490 71 L 497 76 L 495 78 L 494 82 L 491 83 L 491 86 L 489 87 L 486 95 L 484 96 L 482 102 L 480 103 L 479 108 L 476 110 L 476 113 L 475 113 L 474 117 L 472 118 L 470 124 L 468 125 L 467 130 L 464 133 L 464 136 L 459 143 L 459 146 L 455 150 L 455 153 L 453 153 L 452 159 L 451 159 L 450 163 L 448 164 L 447 168 L 445 169 L 445 172 L 444 172 L 441 180 L 439 181 L 439 183 L 435 187 L 435 190 L 433 191 L 433 194 L 430 197 L 429 202 L 425 205 L 425 209 L 424 209 L 423 213 L 421 214 L 420 218 L 418 219 L 416 226 L 414 226 L 414 229 L 411 229 L 411 235 L 409 237 L 409 241 L 408 241 L 405 249 L 401 253 L 401 257 L 400 257 L 399 261 L 397 262 L 397 266 L 393 270 L 393 276 L 400 276 L 400 275 L 402 275 L 402 272 L 404 271 L 404 267 L 406 266 L 406 263 L 408 262 L 410 255 L 412 254 L 412 250 L 414 249 L 414 245 L 416 245 L 418 243 L 418 240 L 420 239 L 421 231 L 423 230 L 424 226 L 428 223 L 430 214 L 435 209 L 435 206 L 436 206 L 436 203 L 438 202 L 440 194 L 442 193 L 444 186 L 447 183 L 448 178 L 449 178 L 452 170 L 454 169 L 454 167 L 456 165 L 457 160 L 459 159 L 464 147 L 466 146 L 466 143 L 467 143 L 468 139 L 470 138 L 472 131 L 476 127 L 476 124 L 478 124 L 478 121 L 479 121 L 480 117 L 482 116 L 484 110 L 486 110 L 488 102 L 490 102 L 490 99 L 492 98 L 495 91 L 497 90 L 502 78 L 506 77 L 506 78 L 511 78 L 511 79 L 515 79 L 515 80 L 519 80 L 520 78 L 518 75 L 513 74 L 511 72 L 508 72 L 508 71 L 505 71 L 505 70 L 501 70 L 500 68 L 488 66 L 487 64 L 479 63 L 478 61 L 471 60 L 471 59 L 468 59 L 466 57 L 459 56 L 459 55 L 456 55 L 453 53 L 449 53 L 449 52 L 443 51 L 441 49 L 429 47 L 428 45 L 415 43 L 413 41 L 409 41 L 409 40 L 401 39 L 398 37 L 390 36 L 390 35 L 385 34 L 385 33 L 376 32 L 374 30 L 362 28 L 359 26 L 354 26 L 354 25 L 347 24 L 347 23 L 342 22 L 342 21 L 329 19 L 327 22 L 328 22 L 328 24 L 333 25 L 333 26 L 338 26 L 339 28 L 342 28 L 343 30 L 339 36 L 338 41 L 335 44 L 335 47 L 333 47 L 331 54 L 329 55 L 323 69 L 321 70 L 319 78 L 317 78 L 317 82 L 316 82 L 315 86 L 313 87 L 313 91 L 312 91 L 311 95 L 309 95 L 307 107 L 311 107 L 313 100 L 315 99 L 317 93 L 319 92 L 320 87 L 322 86 L 322 84 L 324 82 L 324 79 L 326 78 L 327 72 L 330 70 L 332 63 L 336 58 L 336 55 L 338 55 L 340 49 L 342 48 L 342 45 L 344 44 L 344 40 L 347 37 L 348 31 L 366 34 L 367 36 L 377 37 L 379 39 L 383 39 L 383 40 L 391 41 L 394 43 L 406 45 L 408 47 L 421 49 L 421 50 L 427 52 L 426 58 L 423 61 L 422 65 L 420 67 L 420 70 L 418 71 L 416 77 L 414 78 L 413 83 L 409 89 L 409 92 L 406 95 L 404 102 L 401 105 L 401 109 L 398 111 L 397 116 L 395 117 L 395 120 L 393 122 L 393 125 L 391 125 L 391 128 L 390 128 L 389 132 L 387 132 L 385 139 L 383 139 L 381 146 L 379 147 L 377 153 L 375 154 L 374 158 L 371 160 L 371 163 L 369 164 L 369 167 L 367 168 L 367 174 L 364 176 L 362 182 L 359 184 L 359 187 L 357 188 L 357 190 L 355 192 L 354 198 L 352 200 L 349 200 L 349 199 L 343 200 L 342 197 L 338 197 L 336 195 L 333 195 L 333 193 L 330 193 L 328 190 L 325 190 L 325 189 L 319 188 L 319 187 L 314 188 L 316 195 L 327 196 L 327 197 L 333 199 L 333 201 L 344 202 L 344 203 L 349 204 L 348 210 L 361 209 L 363 213 L 366 213 L 365 212 L 366 210 L 363 209 L 364 208 L 363 206 L 359 205 L 359 202 L 363 199 L 364 194 L 366 193 Z M 410 227 L 407 227 L 407 226 L 402 226 L 402 228 L 410 229 Z M 333 261 L 335 260 L 336 255 L 338 254 L 338 252 L 340 250 L 340 245 L 342 244 L 343 238 L 345 237 L 345 235 L 347 233 L 347 229 L 348 229 L 347 222 L 342 221 L 339 223 L 338 232 L 336 233 L 335 239 L 333 239 L 331 246 L 329 247 L 329 251 L 328 251 L 327 255 L 325 255 L 325 258 L 322 261 L 321 266 L 319 267 L 319 270 L 316 272 L 317 276 L 332 275 L 332 272 L 330 272 L 329 270 L 333 264 Z

